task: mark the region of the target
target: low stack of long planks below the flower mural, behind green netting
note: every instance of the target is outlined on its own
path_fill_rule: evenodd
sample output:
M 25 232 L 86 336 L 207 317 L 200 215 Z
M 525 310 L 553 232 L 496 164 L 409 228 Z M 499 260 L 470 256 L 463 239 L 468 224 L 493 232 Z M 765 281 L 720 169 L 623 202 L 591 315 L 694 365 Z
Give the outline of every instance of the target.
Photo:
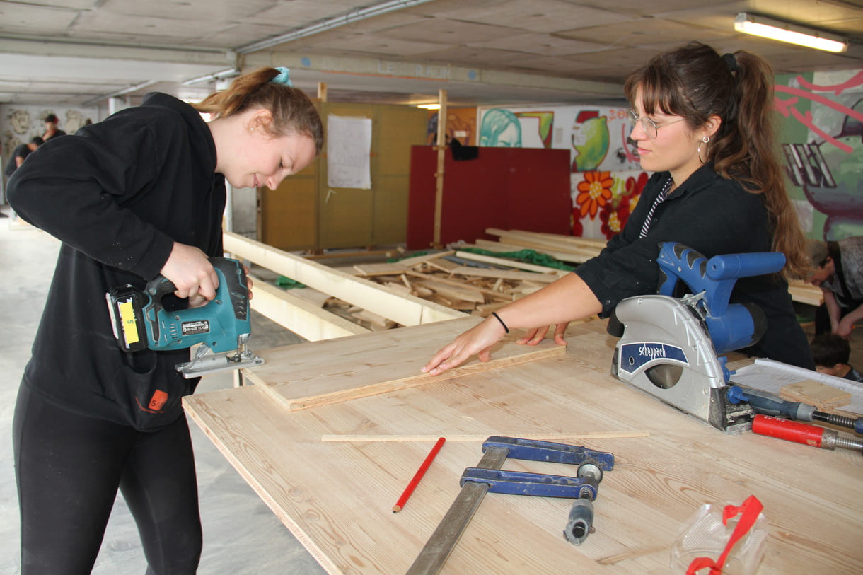
M 606 240 L 602 239 L 563 236 L 538 231 L 487 228 L 486 233 L 489 236 L 499 237 L 499 241 L 478 239 L 476 243 L 461 244 L 460 247 L 497 252 L 534 250 L 561 262 L 584 263 L 599 254 L 606 244 Z

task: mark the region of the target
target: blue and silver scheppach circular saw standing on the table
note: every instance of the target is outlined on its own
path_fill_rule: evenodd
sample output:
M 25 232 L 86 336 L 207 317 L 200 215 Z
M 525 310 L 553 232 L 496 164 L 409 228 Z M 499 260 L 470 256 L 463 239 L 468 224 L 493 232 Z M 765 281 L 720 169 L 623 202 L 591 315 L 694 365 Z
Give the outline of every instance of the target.
M 747 402 L 728 399 L 729 351 L 759 341 L 766 330 L 758 306 L 729 303 L 741 277 L 776 273 L 785 256 L 760 252 L 710 259 L 679 243 L 661 243 L 658 294 L 620 301 L 608 321 L 619 337 L 611 373 L 623 382 L 708 422 L 725 433 L 752 428 Z M 678 281 L 689 293 L 674 297 Z

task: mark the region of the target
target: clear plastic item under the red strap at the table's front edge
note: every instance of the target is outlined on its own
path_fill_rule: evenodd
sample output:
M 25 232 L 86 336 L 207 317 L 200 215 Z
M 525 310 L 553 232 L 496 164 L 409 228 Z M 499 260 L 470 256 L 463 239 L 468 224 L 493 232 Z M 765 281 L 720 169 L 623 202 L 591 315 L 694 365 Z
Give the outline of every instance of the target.
M 727 506 L 738 507 L 733 502 L 718 502 L 702 505 L 683 525 L 680 535 L 671 547 L 671 571 L 686 573 L 694 559 L 708 557 L 718 560 L 734 533 L 742 514 L 730 517 L 722 523 L 722 513 Z M 767 540 L 767 519 L 759 513 L 752 528 L 738 540 L 728 553 L 722 566 L 723 575 L 753 575 L 764 556 Z M 702 568 L 697 575 L 708 575 L 710 569 Z

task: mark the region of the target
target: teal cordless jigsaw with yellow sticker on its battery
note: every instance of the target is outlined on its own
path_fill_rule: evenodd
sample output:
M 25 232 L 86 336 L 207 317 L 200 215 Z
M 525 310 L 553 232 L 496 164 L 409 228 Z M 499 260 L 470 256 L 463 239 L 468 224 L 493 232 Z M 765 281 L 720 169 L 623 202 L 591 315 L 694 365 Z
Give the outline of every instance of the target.
M 218 288 L 205 306 L 166 310 L 162 298 L 176 288 L 163 275 L 148 281 L 143 291 L 126 285 L 105 294 L 120 348 L 169 351 L 200 344 L 191 362 L 177 365 L 186 378 L 264 363 L 246 348 L 251 322 L 243 264 L 225 257 L 213 257 L 210 262 L 218 275 Z

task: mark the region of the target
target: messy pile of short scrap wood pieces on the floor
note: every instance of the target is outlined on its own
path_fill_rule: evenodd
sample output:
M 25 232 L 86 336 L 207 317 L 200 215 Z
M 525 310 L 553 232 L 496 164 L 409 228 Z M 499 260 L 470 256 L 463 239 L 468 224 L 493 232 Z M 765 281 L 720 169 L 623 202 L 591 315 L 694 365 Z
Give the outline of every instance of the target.
M 356 264 L 339 270 L 375 281 L 395 293 L 482 317 L 568 273 L 456 250 L 408 257 L 400 262 Z M 397 325 L 337 298 L 326 300 L 324 309 L 356 320 L 373 331 Z

